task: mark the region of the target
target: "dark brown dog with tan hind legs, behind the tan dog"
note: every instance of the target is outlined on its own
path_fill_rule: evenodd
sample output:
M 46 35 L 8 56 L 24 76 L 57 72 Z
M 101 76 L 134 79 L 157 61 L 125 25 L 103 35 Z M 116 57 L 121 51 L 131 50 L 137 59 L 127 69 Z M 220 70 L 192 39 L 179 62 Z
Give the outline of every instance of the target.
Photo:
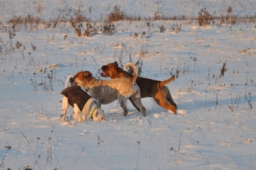
M 101 70 L 104 72 L 101 74 L 101 76 L 110 77 L 112 79 L 133 77 L 133 75 L 118 67 L 117 62 L 108 63 L 107 65 L 102 66 Z M 139 88 L 141 89 L 141 98 L 152 97 L 155 102 L 160 105 L 160 107 L 176 113 L 175 108 L 177 108 L 177 105 L 175 102 L 173 102 L 173 98 L 171 97 L 168 87 L 165 86 L 165 84 L 170 83 L 173 81 L 173 79 L 175 79 L 175 76 L 171 76 L 170 79 L 165 81 L 157 81 L 154 79 L 142 78 L 138 76 L 136 79 L 136 84 L 138 84 Z M 129 98 L 129 100 L 131 103 L 133 103 L 133 106 L 136 107 L 133 100 L 131 98 Z M 139 108 L 136 108 L 139 111 Z

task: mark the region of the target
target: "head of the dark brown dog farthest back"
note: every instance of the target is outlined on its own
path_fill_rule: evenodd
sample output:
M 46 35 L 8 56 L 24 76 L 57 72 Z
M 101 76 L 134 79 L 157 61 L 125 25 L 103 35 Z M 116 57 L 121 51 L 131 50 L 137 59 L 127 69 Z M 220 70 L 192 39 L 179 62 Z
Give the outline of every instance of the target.
M 101 67 L 103 73 L 101 73 L 102 77 L 110 77 L 110 78 L 119 78 L 119 73 L 123 73 L 123 69 L 118 67 L 118 63 L 108 63 L 107 65 L 103 65 Z

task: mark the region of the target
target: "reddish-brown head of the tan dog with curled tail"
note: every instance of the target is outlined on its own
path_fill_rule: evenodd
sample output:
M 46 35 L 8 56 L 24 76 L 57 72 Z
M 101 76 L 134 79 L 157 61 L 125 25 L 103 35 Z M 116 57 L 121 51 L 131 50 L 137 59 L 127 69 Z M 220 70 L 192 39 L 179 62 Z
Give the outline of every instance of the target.
M 87 87 L 88 84 L 95 79 L 90 71 L 80 71 L 75 74 L 73 78 L 70 78 L 70 84 L 76 84 L 80 87 Z

